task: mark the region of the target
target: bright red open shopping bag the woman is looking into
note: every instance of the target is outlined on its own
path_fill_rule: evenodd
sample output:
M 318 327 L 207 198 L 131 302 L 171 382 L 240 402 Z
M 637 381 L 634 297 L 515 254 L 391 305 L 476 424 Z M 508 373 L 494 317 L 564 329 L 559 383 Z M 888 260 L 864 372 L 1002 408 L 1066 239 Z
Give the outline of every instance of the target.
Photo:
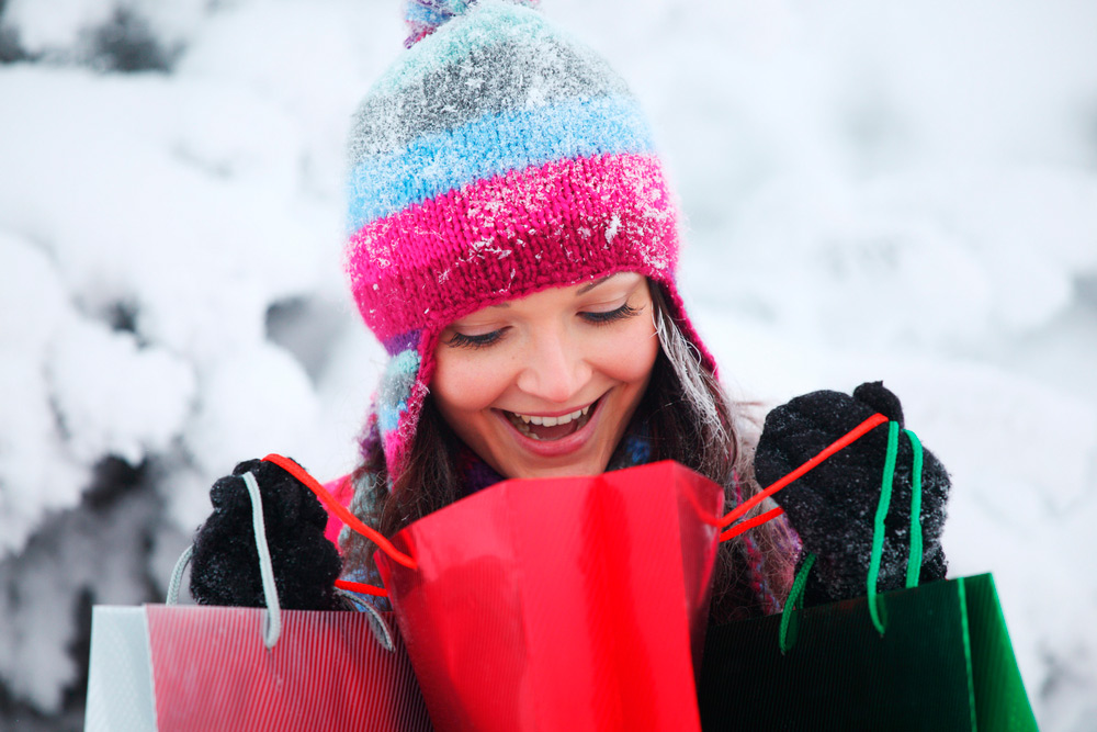
M 697 730 L 723 489 L 672 462 L 505 481 L 377 552 L 437 730 Z

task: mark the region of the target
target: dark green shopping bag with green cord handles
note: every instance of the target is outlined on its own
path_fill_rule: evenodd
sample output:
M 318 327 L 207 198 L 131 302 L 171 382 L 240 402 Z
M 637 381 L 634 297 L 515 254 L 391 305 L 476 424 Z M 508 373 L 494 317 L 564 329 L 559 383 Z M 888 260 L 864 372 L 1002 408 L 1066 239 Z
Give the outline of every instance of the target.
M 920 444 L 914 502 L 920 505 Z M 918 507 L 912 506 L 907 587 L 875 593 L 898 426 L 877 513 L 868 595 L 783 616 L 709 628 L 698 706 L 705 730 L 1036 730 L 989 574 L 917 586 Z

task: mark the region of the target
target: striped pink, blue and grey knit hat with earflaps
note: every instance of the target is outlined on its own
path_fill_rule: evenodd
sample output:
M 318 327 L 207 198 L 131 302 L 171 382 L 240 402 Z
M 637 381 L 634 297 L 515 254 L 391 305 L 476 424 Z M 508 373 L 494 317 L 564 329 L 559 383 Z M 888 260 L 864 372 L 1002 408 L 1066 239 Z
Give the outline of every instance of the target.
M 409 49 L 355 115 L 346 266 L 392 357 L 370 426 L 391 480 L 439 335 L 488 305 L 640 272 L 715 370 L 675 286 L 678 212 L 644 115 L 603 59 L 523 4 L 411 0 Z

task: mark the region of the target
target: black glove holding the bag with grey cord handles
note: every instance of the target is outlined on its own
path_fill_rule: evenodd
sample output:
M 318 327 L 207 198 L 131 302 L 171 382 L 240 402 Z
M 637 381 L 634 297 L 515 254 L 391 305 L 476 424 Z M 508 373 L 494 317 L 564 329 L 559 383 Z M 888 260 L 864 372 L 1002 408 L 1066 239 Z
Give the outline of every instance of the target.
M 256 476 L 279 603 L 291 610 L 342 607 L 335 589 L 339 552 L 324 536 L 327 514 L 303 483 L 271 462 L 249 460 L 210 489 L 213 514 L 194 537 L 191 596 L 202 605 L 262 607 L 251 498 L 240 477 Z

